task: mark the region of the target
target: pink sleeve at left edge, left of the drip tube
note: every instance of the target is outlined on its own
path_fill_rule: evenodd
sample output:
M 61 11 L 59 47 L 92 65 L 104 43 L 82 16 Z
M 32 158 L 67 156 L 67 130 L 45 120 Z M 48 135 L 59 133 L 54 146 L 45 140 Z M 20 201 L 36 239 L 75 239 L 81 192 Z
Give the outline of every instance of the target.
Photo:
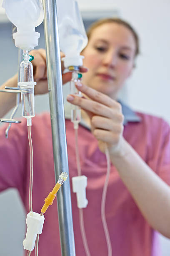
M 0 128 L 0 191 L 16 188 L 24 197 L 27 150 L 27 130 L 25 122 L 13 124 L 9 138 L 5 138 L 6 125 Z M 26 132 L 25 132 L 26 130 Z

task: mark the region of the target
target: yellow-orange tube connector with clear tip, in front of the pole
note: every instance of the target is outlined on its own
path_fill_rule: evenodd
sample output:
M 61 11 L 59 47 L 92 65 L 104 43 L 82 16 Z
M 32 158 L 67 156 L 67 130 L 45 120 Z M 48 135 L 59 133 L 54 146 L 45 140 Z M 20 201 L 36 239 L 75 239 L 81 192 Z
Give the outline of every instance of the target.
M 45 204 L 43 205 L 41 212 L 44 214 L 48 208 L 49 205 L 52 205 L 56 194 L 58 190 L 60 189 L 62 183 L 67 179 L 68 174 L 66 172 L 62 172 L 59 176 L 59 179 L 57 183 L 55 184 L 55 187 L 52 189 L 52 191 L 48 194 L 48 196 L 45 198 Z

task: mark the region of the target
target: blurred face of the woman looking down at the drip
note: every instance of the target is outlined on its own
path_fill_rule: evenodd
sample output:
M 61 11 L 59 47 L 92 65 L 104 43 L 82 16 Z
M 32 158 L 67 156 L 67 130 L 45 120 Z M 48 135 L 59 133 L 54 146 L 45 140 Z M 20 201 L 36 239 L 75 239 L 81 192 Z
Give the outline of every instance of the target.
M 135 51 L 135 38 L 128 28 L 117 23 L 98 26 L 82 52 L 89 69 L 83 83 L 115 99 L 133 70 Z

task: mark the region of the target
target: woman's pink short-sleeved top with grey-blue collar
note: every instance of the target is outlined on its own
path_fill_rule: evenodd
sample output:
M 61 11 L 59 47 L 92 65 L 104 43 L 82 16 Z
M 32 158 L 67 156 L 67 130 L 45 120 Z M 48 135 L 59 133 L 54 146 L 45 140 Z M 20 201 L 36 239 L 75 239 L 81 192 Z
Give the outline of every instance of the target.
M 126 114 L 123 136 L 158 176 L 170 184 L 170 127 L 161 118 L 131 111 Z M 34 151 L 33 211 L 40 212 L 45 197 L 55 185 L 52 135 L 49 113 L 32 119 Z M 77 176 L 73 124 L 66 120 L 67 150 L 70 172 L 72 217 L 77 256 L 85 256 L 82 243 L 76 195 L 71 178 Z M 83 210 L 85 232 L 91 256 L 106 256 L 107 245 L 101 221 L 101 197 L 106 177 L 106 158 L 88 128 L 78 130 L 82 175 L 87 176 L 87 208 Z M 133 161 L 133 159 L 132 159 Z M 18 189 L 29 212 L 30 151 L 26 120 L 12 125 L 9 138 L 0 128 L 0 191 Z M 157 233 L 150 227 L 123 184 L 115 166 L 111 165 L 105 205 L 107 226 L 114 256 L 160 256 Z M 35 255 L 35 251 L 31 253 Z M 61 256 L 57 204 L 45 213 L 45 223 L 39 240 L 40 256 Z

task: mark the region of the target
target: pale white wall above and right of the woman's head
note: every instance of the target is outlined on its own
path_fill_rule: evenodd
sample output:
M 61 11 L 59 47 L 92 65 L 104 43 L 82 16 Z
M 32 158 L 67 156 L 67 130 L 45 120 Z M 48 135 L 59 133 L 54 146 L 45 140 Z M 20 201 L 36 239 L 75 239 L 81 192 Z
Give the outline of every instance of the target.
M 137 30 L 141 54 L 128 81 L 126 101 L 135 109 L 170 122 L 170 1 L 78 0 L 83 10 L 115 8 Z

